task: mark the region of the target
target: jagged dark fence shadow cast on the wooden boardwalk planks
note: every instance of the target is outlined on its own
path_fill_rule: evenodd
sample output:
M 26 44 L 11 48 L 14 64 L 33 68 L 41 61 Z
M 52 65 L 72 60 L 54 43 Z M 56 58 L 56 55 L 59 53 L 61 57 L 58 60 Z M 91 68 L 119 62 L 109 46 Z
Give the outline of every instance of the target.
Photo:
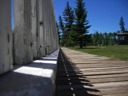
M 56 96 L 100 96 L 91 82 L 74 63 L 60 52 L 57 70 Z

